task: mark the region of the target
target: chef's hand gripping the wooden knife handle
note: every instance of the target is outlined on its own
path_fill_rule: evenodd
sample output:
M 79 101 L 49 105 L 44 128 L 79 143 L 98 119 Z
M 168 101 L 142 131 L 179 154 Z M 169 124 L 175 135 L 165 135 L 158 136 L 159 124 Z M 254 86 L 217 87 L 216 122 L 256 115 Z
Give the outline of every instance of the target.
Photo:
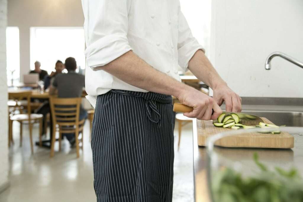
M 184 113 L 184 116 L 189 118 L 215 120 L 222 113 L 220 106 L 218 106 L 212 97 L 205 95 L 192 87 L 184 89 L 177 98 L 182 104 L 194 108 L 192 112 Z M 213 114 L 212 110 L 214 110 Z

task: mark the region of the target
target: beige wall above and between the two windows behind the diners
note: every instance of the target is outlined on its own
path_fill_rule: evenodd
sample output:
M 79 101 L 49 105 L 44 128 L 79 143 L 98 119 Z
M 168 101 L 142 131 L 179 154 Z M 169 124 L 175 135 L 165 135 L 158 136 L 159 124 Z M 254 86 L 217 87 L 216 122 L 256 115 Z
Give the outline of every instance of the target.
M 82 27 L 83 22 L 80 0 L 9 0 L 8 26 L 20 32 L 20 78 L 32 65 L 30 27 Z

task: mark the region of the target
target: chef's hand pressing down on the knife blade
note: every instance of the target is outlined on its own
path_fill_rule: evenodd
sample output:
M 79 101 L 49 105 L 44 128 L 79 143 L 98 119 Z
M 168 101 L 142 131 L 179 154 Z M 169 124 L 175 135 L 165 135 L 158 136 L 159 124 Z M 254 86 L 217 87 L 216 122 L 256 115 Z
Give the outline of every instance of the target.
M 242 99 L 238 94 L 232 91 L 227 85 L 221 85 L 213 89 L 214 100 L 221 106 L 225 101 L 227 112 L 241 112 L 242 111 Z

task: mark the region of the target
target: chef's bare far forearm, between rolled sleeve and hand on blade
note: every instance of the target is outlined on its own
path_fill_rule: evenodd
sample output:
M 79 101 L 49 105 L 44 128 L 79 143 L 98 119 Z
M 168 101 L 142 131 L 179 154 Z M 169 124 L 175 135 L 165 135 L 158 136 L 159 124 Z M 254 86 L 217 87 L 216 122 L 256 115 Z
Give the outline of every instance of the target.
M 206 85 L 215 89 L 217 86 L 226 85 L 218 72 L 211 65 L 204 52 L 198 50 L 188 63 L 188 69 Z

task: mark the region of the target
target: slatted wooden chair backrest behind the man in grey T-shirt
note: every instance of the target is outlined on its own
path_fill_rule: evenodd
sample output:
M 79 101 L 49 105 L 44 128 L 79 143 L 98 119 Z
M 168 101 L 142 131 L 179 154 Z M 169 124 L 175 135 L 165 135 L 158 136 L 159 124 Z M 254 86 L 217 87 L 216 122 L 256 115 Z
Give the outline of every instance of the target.
M 83 120 L 79 121 L 81 97 L 58 98 L 52 96 L 49 100 L 53 126 L 58 124 L 62 133 L 74 133 L 79 130 L 79 124 L 84 123 Z M 74 128 L 74 126 L 76 127 Z

